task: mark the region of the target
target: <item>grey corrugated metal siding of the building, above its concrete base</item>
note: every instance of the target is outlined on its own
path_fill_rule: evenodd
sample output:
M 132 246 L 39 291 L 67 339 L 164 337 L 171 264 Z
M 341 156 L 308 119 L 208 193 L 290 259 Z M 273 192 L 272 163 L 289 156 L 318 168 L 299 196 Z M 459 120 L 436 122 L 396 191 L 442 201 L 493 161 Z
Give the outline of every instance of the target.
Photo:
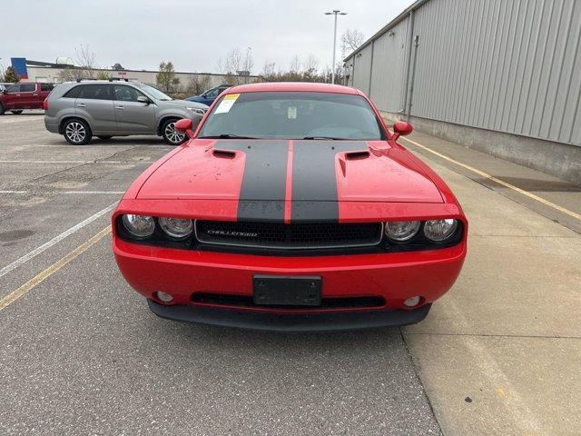
M 430 0 L 414 14 L 412 115 L 581 145 L 580 0 Z M 371 45 L 368 64 L 356 59 L 352 83 L 369 92 L 372 68 L 371 98 L 398 112 L 409 19 L 392 30 L 374 41 L 373 65 Z

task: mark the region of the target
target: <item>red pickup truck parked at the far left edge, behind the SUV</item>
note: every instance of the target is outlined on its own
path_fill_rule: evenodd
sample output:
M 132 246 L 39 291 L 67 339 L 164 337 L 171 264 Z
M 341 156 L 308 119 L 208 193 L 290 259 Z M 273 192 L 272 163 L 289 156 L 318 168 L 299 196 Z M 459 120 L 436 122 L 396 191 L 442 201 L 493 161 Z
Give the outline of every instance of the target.
M 42 109 L 53 88 L 54 84 L 44 83 L 9 84 L 0 94 L 0 115 L 5 111 L 22 114 L 25 109 Z

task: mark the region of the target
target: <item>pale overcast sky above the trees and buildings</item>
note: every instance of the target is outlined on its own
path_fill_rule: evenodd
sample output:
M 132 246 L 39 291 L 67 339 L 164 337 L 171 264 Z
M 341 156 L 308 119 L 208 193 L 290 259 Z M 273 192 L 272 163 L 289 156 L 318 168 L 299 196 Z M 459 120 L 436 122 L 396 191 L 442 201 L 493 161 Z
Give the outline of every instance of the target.
M 340 35 L 357 29 L 365 39 L 399 15 L 412 0 L 28 0 L 25 21 L 3 20 L 0 64 L 10 57 L 54 62 L 75 60 L 75 47 L 88 45 L 95 64 L 156 70 L 162 60 L 176 71 L 218 73 L 219 60 L 233 48 L 251 48 L 252 73 L 265 62 L 288 69 L 295 55 L 313 55 L 320 68 L 331 64 L 333 9 Z

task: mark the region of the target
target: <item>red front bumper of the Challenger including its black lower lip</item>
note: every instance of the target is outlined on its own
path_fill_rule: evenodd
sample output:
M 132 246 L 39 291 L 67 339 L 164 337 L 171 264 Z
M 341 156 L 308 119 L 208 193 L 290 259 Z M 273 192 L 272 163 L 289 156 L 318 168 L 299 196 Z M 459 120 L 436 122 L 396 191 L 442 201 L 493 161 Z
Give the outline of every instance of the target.
M 431 302 L 448 292 L 466 256 L 466 241 L 421 252 L 279 257 L 215 253 L 128 243 L 113 235 L 113 253 L 123 277 L 150 301 L 156 314 L 180 321 L 281 331 L 322 331 L 402 325 L 421 321 Z M 323 300 L 381 297 L 372 307 L 284 309 L 199 302 L 194 294 L 251 297 L 257 274 L 317 275 Z M 155 292 L 170 293 L 160 304 Z M 403 302 L 423 297 L 410 310 Z

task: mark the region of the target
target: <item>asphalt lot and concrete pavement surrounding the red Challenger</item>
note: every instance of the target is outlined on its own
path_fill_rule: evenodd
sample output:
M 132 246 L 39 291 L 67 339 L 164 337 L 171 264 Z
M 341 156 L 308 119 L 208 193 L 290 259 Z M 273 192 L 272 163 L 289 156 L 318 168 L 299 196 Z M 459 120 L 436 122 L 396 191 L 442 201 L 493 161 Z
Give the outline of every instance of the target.
M 0 117 L 0 433 L 578 434 L 581 189 L 410 138 L 470 220 L 457 284 L 415 326 L 288 335 L 164 321 L 124 282 L 111 211 L 161 139 Z

